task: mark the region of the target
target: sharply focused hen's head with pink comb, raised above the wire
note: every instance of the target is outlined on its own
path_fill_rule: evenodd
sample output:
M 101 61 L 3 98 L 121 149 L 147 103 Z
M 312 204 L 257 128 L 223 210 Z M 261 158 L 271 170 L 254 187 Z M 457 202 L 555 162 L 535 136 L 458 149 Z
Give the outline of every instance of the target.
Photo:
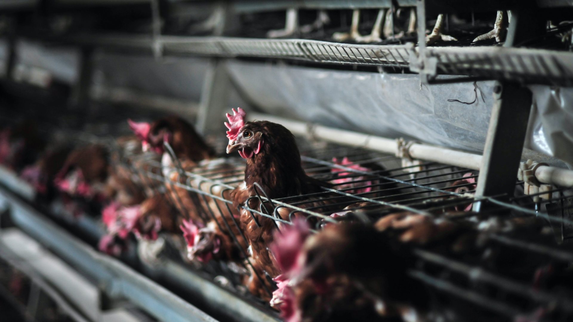
M 238 151 L 242 158 L 252 159 L 257 155 L 273 152 L 288 159 L 298 159 L 300 163 L 299 150 L 291 131 L 269 121 L 245 122 L 245 115 L 242 108 L 237 108 L 237 111 L 233 109 L 233 115 L 227 113 L 227 154 Z

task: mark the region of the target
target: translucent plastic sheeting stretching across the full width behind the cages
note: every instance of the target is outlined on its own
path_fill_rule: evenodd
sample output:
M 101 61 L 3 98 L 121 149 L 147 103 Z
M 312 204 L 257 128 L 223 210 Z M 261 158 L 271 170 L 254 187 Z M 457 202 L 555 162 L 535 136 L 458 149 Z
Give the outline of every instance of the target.
M 0 57 L 5 46 L 0 43 Z M 66 48 L 19 42 L 18 62 L 50 70 L 70 83 L 78 55 Z M 199 101 L 208 58 L 162 58 L 100 53 L 95 83 Z M 493 81 L 421 85 L 417 74 L 386 74 L 229 60 L 238 92 L 263 112 L 366 132 L 406 137 L 480 152 L 493 106 Z M 448 77 L 448 76 L 442 76 Z M 573 164 L 573 88 L 531 86 L 533 109 L 525 147 Z M 456 101 L 457 100 L 457 101 Z M 472 104 L 464 104 L 471 103 Z

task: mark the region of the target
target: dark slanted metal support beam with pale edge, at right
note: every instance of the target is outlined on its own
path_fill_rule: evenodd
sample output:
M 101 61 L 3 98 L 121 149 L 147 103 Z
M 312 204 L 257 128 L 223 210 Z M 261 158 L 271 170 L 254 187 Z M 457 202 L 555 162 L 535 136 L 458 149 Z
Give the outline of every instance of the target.
M 494 98 L 476 197 L 513 195 L 531 111 L 532 93 L 521 85 L 497 82 Z M 476 202 L 473 210 L 481 206 Z

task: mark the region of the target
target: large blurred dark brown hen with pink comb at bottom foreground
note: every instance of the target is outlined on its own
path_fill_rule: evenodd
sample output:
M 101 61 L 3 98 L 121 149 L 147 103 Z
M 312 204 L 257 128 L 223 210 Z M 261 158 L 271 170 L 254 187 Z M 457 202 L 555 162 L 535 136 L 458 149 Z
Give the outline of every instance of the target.
M 420 289 L 406 275 L 411 258 L 373 227 L 347 222 L 311 235 L 308 225 L 295 222 L 276 237 L 272 250 L 284 282 L 272 304 L 285 321 L 393 320 L 411 313 L 417 295 L 407 290 Z

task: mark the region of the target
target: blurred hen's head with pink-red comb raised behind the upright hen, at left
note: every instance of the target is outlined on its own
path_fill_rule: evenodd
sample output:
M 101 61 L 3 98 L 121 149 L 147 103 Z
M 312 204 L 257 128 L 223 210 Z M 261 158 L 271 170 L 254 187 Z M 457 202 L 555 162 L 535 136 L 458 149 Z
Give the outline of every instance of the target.
M 147 122 L 134 122 L 131 119 L 128 119 L 127 123 L 135 135 L 142 140 L 143 151 L 153 151 L 157 154 L 162 154 L 163 142 L 171 143 L 173 133 L 167 124 L 156 122 L 151 125 Z

